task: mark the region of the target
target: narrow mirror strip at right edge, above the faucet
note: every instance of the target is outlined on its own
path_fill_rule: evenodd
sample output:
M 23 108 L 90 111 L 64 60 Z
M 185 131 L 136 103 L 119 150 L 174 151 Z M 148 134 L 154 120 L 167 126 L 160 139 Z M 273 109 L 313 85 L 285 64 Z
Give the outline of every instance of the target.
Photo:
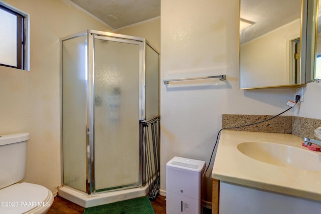
M 317 3 L 318 2 L 318 3 Z M 318 4 L 318 5 L 317 5 Z M 310 39 L 314 41 L 311 43 L 311 68 L 310 73 L 306 72 L 306 82 L 312 82 L 321 79 L 321 1 L 314 0 L 313 1 L 313 11 L 309 12 L 312 15 L 311 23 L 312 26 L 311 32 L 316 32 L 316 34 L 311 33 Z M 316 10 L 317 9 L 317 10 Z M 315 17 L 313 19 L 313 17 Z M 314 35 L 316 38 L 314 38 Z M 313 69 L 314 68 L 314 69 Z

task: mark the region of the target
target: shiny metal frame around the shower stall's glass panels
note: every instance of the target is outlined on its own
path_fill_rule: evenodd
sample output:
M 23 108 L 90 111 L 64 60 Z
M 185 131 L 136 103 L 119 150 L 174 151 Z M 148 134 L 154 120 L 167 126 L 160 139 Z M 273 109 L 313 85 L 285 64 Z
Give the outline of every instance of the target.
M 61 62 L 60 62 L 60 71 L 62 73 L 62 42 L 85 36 L 86 41 L 86 53 L 85 53 L 85 59 L 86 59 L 86 99 L 85 99 L 85 105 L 86 105 L 86 127 L 84 132 L 86 132 L 86 179 L 88 179 L 89 176 L 89 185 L 88 180 L 86 181 L 86 193 L 88 195 L 93 194 L 96 192 L 95 189 L 95 176 L 94 176 L 94 36 L 100 36 L 107 40 L 111 39 L 119 39 L 123 41 L 134 41 L 141 43 L 139 48 L 139 64 L 140 64 L 140 70 L 139 70 L 139 121 L 137 123 L 140 123 L 140 121 L 145 120 L 146 114 L 145 114 L 145 77 L 146 77 L 146 45 L 150 46 L 155 52 L 158 54 L 158 60 L 160 58 L 159 52 L 152 47 L 147 40 L 144 38 L 139 37 L 132 37 L 127 35 L 120 35 L 120 34 L 114 34 L 109 32 L 102 32 L 102 31 L 94 31 L 94 30 L 87 30 L 83 31 L 77 34 L 73 34 L 67 37 L 63 37 L 60 39 L 60 50 L 61 50 Z M 158 69 L 159 69 L 158 65 Z M 158 90 L 158 93 L 160 93 L 160 90 Z M 159 94 L 158 94 L 159 96 Z M 60 99 L 62 100 L 62 80 L 60 83 Z M 158 109 L 159 109 L 159 103 L 158 103 Z M 60 112 L 62 112 L 62 102 L 60 105 Z M 63 129 L 62 129 L 62 114 L 61 114 L 61 154 L 63 154 Z M 88 146 L 89 145 L 89 150 Z M 138 185 L 144 185 L 145 183 L 145 163 L 144 163 L 144 154 L 143 154 L 143 137 L 142 137 L 142 130 L 139 128 L 139 183 Z M 89 153 L 90 160 L 88 161 L 87 154 Z M 64 184 L 64 168 L 63 168 L 63 155 L 61 155 L 61 180 L 62 184 Z M 127 188 L 131 188 L 135 186 L 130 186 Z M 118 190 L 113 189 L 113 190 Z

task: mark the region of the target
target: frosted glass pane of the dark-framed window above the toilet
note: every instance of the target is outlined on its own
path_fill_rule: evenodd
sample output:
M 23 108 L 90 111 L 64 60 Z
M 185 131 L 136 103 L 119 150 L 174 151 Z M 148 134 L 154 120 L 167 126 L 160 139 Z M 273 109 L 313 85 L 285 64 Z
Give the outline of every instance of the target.
M 17 66 L 17 16 L 0 9 L 0 64 Z

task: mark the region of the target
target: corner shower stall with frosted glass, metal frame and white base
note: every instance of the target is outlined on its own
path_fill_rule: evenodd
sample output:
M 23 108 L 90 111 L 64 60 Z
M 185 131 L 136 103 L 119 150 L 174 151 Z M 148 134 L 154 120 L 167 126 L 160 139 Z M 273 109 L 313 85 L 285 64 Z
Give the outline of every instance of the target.
M 146 195 L 141 124 L 159 118 L 159 53 L 143 38 L 93 30 L 60 45 L 59 195 L 84 207 Z

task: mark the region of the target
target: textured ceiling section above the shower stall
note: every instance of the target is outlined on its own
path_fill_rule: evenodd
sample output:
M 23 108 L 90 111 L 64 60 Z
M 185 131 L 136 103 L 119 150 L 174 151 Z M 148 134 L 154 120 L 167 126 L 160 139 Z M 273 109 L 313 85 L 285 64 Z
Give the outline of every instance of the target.
M 70 0 L 113 29 L 161 16 L 161 0 Z

